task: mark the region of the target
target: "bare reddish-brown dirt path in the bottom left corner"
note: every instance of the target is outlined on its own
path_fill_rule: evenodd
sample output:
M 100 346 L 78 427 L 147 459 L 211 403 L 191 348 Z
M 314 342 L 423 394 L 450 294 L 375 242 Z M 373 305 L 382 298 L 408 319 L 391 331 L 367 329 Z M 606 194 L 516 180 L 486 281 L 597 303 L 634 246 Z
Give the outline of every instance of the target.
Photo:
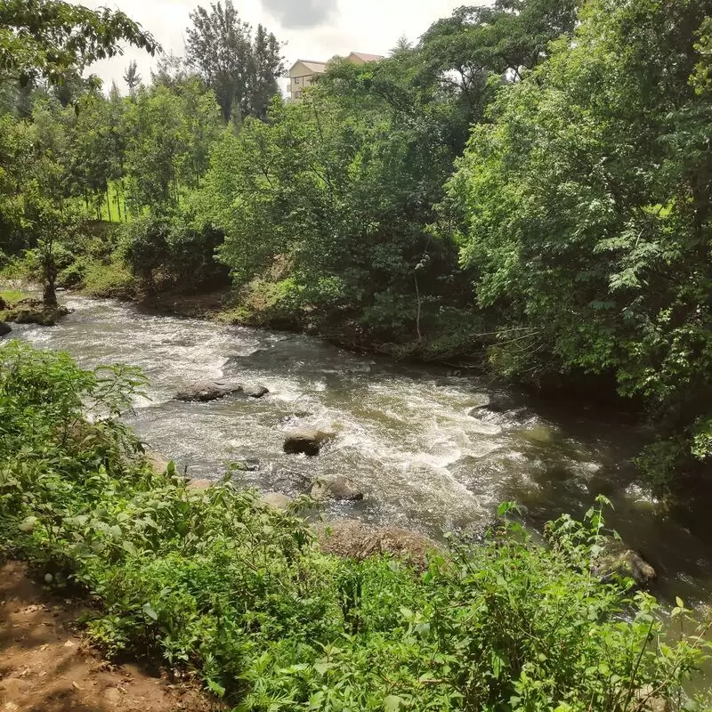
M 49 599 L 25 566 L 0 567 L 0 712 L 209 712 L 199 692 L 109 665 L 82 643 L 77 606 Z

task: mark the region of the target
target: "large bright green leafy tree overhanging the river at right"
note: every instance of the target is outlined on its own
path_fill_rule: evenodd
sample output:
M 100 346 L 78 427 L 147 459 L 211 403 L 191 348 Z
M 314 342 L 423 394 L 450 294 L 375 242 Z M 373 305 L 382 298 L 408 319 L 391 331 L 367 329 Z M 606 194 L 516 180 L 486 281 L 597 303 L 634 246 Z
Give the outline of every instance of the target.
M 575 41 L 500 94 L 449 186 L 501 329 L 494 362 L 614 375 L 672 438 L 642 460 L 661 486 L 712 444 L 708 10 L 587 4 Z

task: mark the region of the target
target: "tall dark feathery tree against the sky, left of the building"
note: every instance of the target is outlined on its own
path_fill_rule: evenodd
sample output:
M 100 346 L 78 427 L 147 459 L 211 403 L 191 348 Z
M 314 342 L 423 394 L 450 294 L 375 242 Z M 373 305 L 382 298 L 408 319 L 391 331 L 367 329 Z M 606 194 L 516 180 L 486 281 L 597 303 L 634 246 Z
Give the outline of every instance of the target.
M 258 26 L 239 18 L 231 0 L 198 7 L 190 13 L 193 26 L 186 29 L 186 50 L 190 65 L 210 86 L 227 122 L 239 117 L 263 116 L 278 93 L 277 77 L 284 74 L 281 44 Z

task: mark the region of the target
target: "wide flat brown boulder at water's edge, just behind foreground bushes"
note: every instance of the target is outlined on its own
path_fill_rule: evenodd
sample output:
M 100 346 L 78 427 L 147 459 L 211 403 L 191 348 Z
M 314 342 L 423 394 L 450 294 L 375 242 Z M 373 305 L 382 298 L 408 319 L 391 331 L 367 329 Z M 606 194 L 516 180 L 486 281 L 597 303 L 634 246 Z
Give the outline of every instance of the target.
M 363 561 L 369 556 L 392 554 L 412 563 L 417 569 L 427 567 L 427 554 L 440 547 L 415 531 L 382 527 L 372 529 L 363 522 L 344 520 L 316 526 L 321 550 L 325 554 Z

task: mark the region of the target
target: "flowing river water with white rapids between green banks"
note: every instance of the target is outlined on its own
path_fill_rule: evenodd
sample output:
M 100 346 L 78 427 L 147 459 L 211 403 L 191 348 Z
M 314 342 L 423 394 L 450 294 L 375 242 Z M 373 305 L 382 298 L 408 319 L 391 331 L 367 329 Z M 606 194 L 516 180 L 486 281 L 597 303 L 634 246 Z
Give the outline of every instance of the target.
M 514 500 L 539 527 L 580 515 L 599 492 L 607 521 L 659 573 L 658 595 L 712 599 L 710 534 L 663 511 L 635 484 L 630 457 L 641 433 L 583 403 L 517 396 L 502 412 L 478 408 L 501 396 L 487 380 L 447 368 L 412 367 L 340 350 L 309 336 L 142 313 L 133 305 L 68 296 L 74 310 L 54 328 L 14 326 L 13 336 L 69 352 L 91 368 L 124 362 L 150 378 L 149 398 L 127 417 L 148 447 L 194 478 L 231 463 L 247 485 L 295 495 L 306 483 L 346 475 L 365 493 L 333 503 L 330 518 L 361 518 L 423 531 L 474 531 Z M 175 401 L 184 385 L 224 379 L 266 386 L 255 400 Z M 285 433 L 336 433 L 319 457 L 286 455 Z M 257 462 L 255 462 L 255 460 Z M 712 528 L 703 528 L 708 531 Z

